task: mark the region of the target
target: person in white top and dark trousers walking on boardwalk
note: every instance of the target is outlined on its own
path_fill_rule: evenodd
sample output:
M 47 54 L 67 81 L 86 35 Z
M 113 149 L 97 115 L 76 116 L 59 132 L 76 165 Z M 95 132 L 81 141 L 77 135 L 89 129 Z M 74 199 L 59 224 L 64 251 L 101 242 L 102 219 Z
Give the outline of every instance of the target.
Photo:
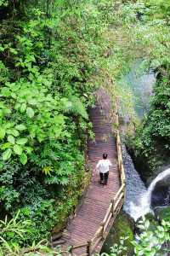
M 107 159 L 107 154 L 103 154 L 103 159 L 99 160 L 96 170 L 99 172 L 100 184 L 107 185 L 109 177 L 109 167 L 112 166 L 111 161 Z

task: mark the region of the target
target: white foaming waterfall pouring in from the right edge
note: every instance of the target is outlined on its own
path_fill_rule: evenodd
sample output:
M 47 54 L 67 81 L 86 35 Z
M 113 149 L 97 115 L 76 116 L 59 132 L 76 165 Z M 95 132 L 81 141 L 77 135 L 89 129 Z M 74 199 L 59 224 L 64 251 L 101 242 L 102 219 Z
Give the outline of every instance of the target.
M 153 212 L 151 209 L 151 195 L 152 191 L 156 187 L 156 183 L 170 176 L 170 168 L 161 172 L 153 181 L 150 183 L 150 187 L 139 197 L 139 205 L 136 205 L 133 201 L 129 202 L 128 213 L 136 221 L 138 218 L 144 216 L 149 212 Z

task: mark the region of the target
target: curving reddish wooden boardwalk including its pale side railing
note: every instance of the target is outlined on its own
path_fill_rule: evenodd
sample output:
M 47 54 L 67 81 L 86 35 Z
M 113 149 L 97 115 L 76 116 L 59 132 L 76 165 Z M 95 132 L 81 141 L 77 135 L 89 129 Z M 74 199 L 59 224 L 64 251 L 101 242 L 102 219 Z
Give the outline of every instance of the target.
M 112 166 L 107 186 L 99 184 L 99 174 L 93 171 L 88 191 L 75 218 L 63 234 L 70 255 L 85 256 L 99 253 L 116 215 L 120 211 L 125 193 L 125 174 L 116 110 L 115 136 L 113 132 L 111 99 L 100 89 L 95 108 L 90 111 L 94 125 L 95 142 L 88 142 L 88 160 L 93 170 L 103 153 L 107 153 Z M 67 254 L 68 255 L 68 254 Z

